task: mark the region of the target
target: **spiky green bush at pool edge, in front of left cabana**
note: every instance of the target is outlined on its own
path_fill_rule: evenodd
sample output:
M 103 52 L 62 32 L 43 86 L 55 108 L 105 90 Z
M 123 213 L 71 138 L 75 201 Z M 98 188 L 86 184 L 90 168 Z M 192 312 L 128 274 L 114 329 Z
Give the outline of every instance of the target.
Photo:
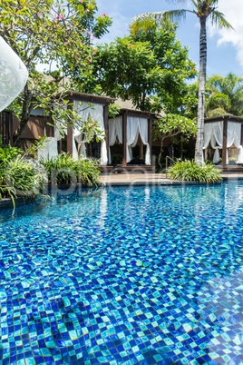
M 50 160 L 41 160 L 47 172 L 48 182 L 76 183 L 83 182 L 88 185 L 100 181 L 101 173 L 99 166 L 90 159 L 74 160 L 73 156 L 61 153 Z

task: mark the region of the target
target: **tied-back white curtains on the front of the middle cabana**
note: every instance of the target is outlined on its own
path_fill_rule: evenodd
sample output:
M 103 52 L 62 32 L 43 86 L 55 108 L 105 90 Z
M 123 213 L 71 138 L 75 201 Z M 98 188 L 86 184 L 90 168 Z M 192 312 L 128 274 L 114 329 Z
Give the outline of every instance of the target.
M 132 160 L 132 147 L 138 142 L 139 135 L 141 142 L 146 145 L 145 164 L 151 164 L 151 147 L 148 142 L 148 119 L 128 116 L 127 118 L 127 163 Z

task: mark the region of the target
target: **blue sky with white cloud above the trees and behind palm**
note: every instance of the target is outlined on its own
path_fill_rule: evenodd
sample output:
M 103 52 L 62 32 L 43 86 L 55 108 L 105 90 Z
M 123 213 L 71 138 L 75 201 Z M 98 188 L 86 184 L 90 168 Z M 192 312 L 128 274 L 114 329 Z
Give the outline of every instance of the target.
M 172 9 L 192 9 L 190 1 L 174 0 L 96 0 L 99 13 L 112 17 L 110 32 L 104 35 L 101 43 L 110 43 L 116 37 L 129 34 L 132 17 L 141 13 L 159 12 Z M 234 30 L 222 30 L 207 23 L 208 63 L 207 74 L 228 73 L 243 77 L 243 0 L 219 0 L 218 10 L 225 15 Z M 199 18 L 187 14 L 177 30 L 181 44 L 189 47 L 189 57 L 199 70 Z

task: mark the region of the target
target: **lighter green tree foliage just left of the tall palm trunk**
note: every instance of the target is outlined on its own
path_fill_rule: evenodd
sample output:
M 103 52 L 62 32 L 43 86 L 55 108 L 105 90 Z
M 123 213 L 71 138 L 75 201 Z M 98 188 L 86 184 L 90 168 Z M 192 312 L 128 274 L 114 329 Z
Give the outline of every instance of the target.
M 133 33 L 135 41 L 149 42 L 151 51 L 157 57 L 162 70 L 156 97 L 152 96 L 151 110 L 160 111 L 161 105 L 165 113 L 182 113 L 187 109 L 190 86 L 186 81 L 193 79 L 198 73 L 196 65 L 188 58 L 188 48 L 182 47 L 176 39 L 178 25 L 169 21 L 159 30 L 140 30 Z M 159 102 L 159 105 L 158 105 Z

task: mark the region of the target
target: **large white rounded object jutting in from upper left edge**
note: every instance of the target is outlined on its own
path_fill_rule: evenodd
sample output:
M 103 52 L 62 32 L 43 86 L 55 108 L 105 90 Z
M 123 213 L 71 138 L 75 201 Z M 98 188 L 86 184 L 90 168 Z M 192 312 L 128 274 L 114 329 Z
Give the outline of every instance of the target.
M 24 63 L 0 36 L 0 112 L 22 92 L 27 80 Z

